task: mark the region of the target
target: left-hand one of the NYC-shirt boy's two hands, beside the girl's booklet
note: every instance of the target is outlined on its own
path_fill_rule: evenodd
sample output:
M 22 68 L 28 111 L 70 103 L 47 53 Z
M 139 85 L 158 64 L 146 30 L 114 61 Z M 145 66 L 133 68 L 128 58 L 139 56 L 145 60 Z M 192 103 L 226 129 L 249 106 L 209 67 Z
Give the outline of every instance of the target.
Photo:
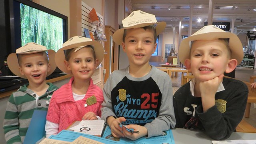
M 126 121 L 124 117 L 120 117 L 120 118 L 114 118 L 113 116 L 108 117 L 107 123 L 111 129 L 111 134 L 115 138 L 124 137 L 124 134 L 122 133 L 122 128 L 119 126 L 119 123 L 124 121 Z

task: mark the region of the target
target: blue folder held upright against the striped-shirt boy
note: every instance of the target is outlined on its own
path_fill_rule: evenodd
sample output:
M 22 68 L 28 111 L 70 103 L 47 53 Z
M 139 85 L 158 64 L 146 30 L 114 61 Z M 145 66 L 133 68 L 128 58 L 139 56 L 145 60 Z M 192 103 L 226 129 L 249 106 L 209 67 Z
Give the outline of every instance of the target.
M 34 110 L 23 144 L 35 144 L 45 136 L 45 110 Z

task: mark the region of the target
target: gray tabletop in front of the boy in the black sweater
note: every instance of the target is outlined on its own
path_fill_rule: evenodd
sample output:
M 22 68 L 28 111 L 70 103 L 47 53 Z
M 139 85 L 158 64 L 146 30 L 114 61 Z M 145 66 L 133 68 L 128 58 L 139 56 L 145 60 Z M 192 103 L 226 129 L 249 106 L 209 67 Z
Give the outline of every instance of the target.
M 212 144 L 211 138 L 203 131 L 174 128 L 172 130 L 175 144 Z M 255 140 L 256 133 L 233 132 L 226 140 Z

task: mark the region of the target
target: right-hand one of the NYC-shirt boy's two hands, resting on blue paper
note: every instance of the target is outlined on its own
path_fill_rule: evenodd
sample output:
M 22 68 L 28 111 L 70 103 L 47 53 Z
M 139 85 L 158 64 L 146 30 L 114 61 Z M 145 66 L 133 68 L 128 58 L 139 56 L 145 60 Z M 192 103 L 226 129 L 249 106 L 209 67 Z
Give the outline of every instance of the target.
M 139 133 L 136 134 L 136 133 L 129 132 L 128 130 L 126 130 L 126 128 L 133 128 L 134 131 L 139 131 Z M 131 140 L 137 140 L 138 138 L 141 138 L 142 136 L 148 135 L 148 130 L 144 126 L 140 126 L 137 124 L 129 124 L 126 126 L 126 128 L 124 126 L 122 127 L 123 134 L 126 138 L 129 138 Z

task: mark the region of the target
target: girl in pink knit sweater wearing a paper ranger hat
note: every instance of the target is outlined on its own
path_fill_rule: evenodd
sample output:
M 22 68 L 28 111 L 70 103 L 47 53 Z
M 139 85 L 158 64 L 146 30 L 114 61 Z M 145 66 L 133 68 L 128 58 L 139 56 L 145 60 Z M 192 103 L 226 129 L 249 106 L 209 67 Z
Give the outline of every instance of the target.
M 60 70 L 73 77 L 56 90 L 46 116 L 46 138 L 65 130 L 74 121 L 101 119 L 102 90 L 93 84 L 92 74 L 104 57 L 102 44 L 74 36 L 55 54 Z

